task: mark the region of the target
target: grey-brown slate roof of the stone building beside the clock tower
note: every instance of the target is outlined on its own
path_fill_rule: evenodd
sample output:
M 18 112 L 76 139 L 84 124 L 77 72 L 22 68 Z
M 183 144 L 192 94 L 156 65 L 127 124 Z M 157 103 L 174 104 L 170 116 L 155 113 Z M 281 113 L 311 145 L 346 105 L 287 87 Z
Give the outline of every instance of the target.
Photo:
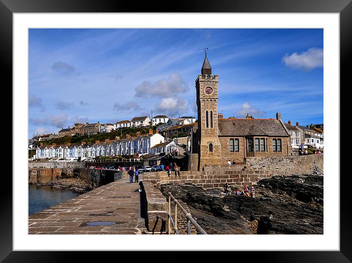
M 218 127 L 224 136 L 289 136 L 276 119 L 218 119 Z

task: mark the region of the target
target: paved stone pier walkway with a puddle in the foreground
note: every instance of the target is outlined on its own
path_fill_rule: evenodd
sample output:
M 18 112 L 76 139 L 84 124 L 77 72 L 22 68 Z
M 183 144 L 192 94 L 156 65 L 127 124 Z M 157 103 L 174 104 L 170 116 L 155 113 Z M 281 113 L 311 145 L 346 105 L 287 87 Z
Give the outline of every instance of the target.
M 142 234 L 138 183 L 100 186 L 29 216 L 29 234 Z

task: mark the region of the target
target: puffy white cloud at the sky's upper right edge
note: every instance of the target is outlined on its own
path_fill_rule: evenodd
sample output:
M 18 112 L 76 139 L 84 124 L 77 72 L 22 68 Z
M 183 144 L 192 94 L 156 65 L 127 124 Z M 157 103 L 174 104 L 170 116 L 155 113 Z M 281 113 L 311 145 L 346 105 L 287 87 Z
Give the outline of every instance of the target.
M 310 48 L 301 53 L 285 54 L 282 61 L 288 67 L 310 71 L 323 67 L 323 49 Z

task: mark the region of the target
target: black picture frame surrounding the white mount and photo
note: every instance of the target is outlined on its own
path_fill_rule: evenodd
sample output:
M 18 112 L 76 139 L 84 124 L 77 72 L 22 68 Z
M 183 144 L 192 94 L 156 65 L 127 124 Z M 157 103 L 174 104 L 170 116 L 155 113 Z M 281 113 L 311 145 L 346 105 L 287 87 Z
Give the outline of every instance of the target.
M 7 87 L 12 86 L 12 15 L 13 13 L 50 13 L 50 12 L 278 12 L 278 13 L 339 13 L 340 14 L 340 87 L 350 87 L 352 74 L 349 64 L 352 59 L 352 0 L 202 0 L 202 1 L 113 1 L 113 0 L 0 0 L 0 65 L 2 80 Z M 6 88 L 2 87 L 2 90 Z M 343 89 L 340 88 L 340 92 Z M 8 88 L 7 88 L 8 91 Z M 12 97 L 12 95 L 9 95 Z M 10 98 L 10 97 L 8 97 Z M 341 105 L 341 104 L 340 104 Z M 8 124 L 8 122 L 7 122 Z M 337 130 L 339 131 L 339 129 Z M 14 139 L 14 138 L 12 138 Z M 340 142 L 336 142 L 339 145 Z M 336 153 L 339 154 L 339 153 Z M 341 154 L 341 158 L 343 155 Z M 326 160 L 328 161 L 328 160 Z M 344 159 L 340 164 L 344 163 Z M 340 178 L 340 251 L 260 251 L 235 252 L 236 256 L 226 256 L 218 260 L 245 260 L 260 262 L 352 262 L 352 213 L 349 191 L 349 177 L 340 176 L 340 164 L 335 163 L 336 178 Z M 8 165 L 7 165 L 8 166 Z M 342 168 L 342 167 L 341 167 Z M 8 172 L 8 171 L 7 171 Z M 9 173 L 8 173 L 9 174 Z M 3 187 L 0 201 L 0 262 L 62 262 L 79 257 L 81 262 L 91 261 L 92 253 L 13 251 L 12 249 L 12 178 L 2 176 Z M 344 209 L 345 208 L 345 209 Z M 131 245 L 133 247 L 133 245 Z M 138 245 L 143 249 L 143 246 Z M 173 244 L 171 244 L 173 247 Z M 250 244 L 249 244 L 250 249 Z M 95 252 L 96 253 L 96 252 Z M 118 252 L 119 257 L 131 256 L 131 253 Z M 73 254 L 70 252 L 70 254 Z M 182 254 L 182 253 L 181 253 Z M 170 252 L 167 258 L 155 257 L 154 252 L 145 252 L 144 259 L 138 261 L 182 260 L 180 253 Z M 208 253 L 197 253 L 197 261 L 207 259 Z M 106 258 L 108 260 L 108 258 Z

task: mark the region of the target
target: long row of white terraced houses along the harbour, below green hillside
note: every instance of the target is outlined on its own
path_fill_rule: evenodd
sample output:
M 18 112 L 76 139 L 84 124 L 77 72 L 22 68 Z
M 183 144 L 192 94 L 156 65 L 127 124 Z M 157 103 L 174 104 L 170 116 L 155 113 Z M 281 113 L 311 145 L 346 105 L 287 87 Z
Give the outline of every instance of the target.
M 129 134 L 125 139 L 118 136 L 115 140 L 106 139 L 104 142 L 95 141 L 89 144 L 52 145 L 41 144 L 35 153 L 35 158 L 65 158 L 65 159 L 86 159 L 99 156 L 125 156 L 125 155 L 147 155 L 156 153 L 171 153 L 175 150 L 174 141 L 165 141 L 165 138 L 158 131 L 153 133 L 149 130 L 147 134 L 139 134 L 132 137 Z

